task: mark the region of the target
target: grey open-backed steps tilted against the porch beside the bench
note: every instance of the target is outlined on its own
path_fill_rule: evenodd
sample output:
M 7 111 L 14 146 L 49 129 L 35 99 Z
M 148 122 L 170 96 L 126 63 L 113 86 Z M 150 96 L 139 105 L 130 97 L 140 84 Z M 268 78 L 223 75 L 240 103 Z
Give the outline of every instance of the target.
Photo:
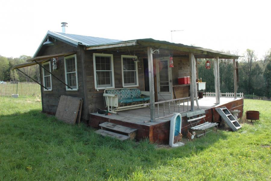
M 221 118 L 232 129 L 232 131 L 237 131 L 242 127 L 226 107 L 218 107 L 215 109 L 220 114 Z

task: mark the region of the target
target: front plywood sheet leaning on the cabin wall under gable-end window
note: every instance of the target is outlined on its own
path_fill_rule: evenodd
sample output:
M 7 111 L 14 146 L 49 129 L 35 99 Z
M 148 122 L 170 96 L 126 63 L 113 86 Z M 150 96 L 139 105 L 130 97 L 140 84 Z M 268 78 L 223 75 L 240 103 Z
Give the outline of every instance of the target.
M 81 100 L 78 97 L 61 96 L 55 116 L 68 124 L 75 124 Z

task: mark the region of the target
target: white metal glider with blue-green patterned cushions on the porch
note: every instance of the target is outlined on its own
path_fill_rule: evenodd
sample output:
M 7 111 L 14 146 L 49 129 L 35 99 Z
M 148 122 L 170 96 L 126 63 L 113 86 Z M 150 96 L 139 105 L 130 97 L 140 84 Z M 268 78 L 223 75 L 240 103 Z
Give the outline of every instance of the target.
M 138 88 L 119 88 L 105 89 L 103 95 L 108 112 L 116 113 L 148 106 L 146 102 L 150 100 L 150 96 L 145 94 L 148 93 Z

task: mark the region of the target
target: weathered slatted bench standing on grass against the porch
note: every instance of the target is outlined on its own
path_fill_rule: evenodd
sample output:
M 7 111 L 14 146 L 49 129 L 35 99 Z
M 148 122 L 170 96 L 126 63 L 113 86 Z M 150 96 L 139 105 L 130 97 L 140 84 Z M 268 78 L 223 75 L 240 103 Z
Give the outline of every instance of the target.
M 192 126 L 190 129 L 192 129 L 193 131 L 198 131 L 198 130 L 203 130 L 204 131 L 203 134 L 197 135 L 198 137 L 202 136 L 202 135 L 205 136 L 206 129 L 212 128 L 214 126 L 216 126 L 216 132 L 217 132 L 218 123 L 216 123 L 216 122 L 206 122 L 205 119 L 204 119 L 206 117 L 204 110 L 188 112 L 188 113 L 186 113 L 186 117 L 188 118 L 187 122 L 190 122 L 190 125 Z M 200 124 L 200 121 L 201 121 L 202 118 L 204 120 L 204 123 Z M 192 122 L 193 123 L 196 122 L 196 125 L 193 126 Z

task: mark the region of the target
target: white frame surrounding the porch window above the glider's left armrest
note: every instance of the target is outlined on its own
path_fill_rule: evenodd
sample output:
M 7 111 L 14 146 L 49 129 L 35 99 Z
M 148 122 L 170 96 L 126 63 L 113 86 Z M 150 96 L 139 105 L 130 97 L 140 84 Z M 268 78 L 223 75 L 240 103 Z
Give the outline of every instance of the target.
M 104 56 L 104 57 L 110 57 L 111 58 L 111 76 L 112 76 L 112 86 L 111 87 L 97 87 L 97 75 L 96 75 L 96 60 L 95 56 Z M 115 88 L 115 81 L 114 81 L 114 64 L 113 64 L 113 54 L 105 54 L 105 53 L 93 53 L 93 69 L 94 69 L 94 84 L 95 89 L 111 89 Z

